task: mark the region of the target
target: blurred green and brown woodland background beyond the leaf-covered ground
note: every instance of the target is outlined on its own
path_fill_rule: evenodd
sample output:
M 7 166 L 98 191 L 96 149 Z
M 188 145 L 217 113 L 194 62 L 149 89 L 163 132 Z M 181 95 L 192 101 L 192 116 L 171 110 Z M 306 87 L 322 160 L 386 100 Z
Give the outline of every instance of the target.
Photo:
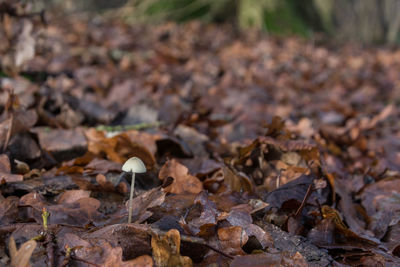
M 36 8 L 101 14 L 131 23 L 164 21 L 230 23 L 235 29 L 260 29 L 274 35 L 340 41 L 399 44 L 398 0 L 42 0 Z

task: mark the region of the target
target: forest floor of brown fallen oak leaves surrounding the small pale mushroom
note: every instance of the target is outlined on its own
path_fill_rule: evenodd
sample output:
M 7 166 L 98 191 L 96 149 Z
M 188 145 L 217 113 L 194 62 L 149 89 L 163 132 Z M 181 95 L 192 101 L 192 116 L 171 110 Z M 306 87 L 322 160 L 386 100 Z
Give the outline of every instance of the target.
M 1 266 L 400 265 L 400 50 L 74 16 L 34 33 L 0 78 Z

